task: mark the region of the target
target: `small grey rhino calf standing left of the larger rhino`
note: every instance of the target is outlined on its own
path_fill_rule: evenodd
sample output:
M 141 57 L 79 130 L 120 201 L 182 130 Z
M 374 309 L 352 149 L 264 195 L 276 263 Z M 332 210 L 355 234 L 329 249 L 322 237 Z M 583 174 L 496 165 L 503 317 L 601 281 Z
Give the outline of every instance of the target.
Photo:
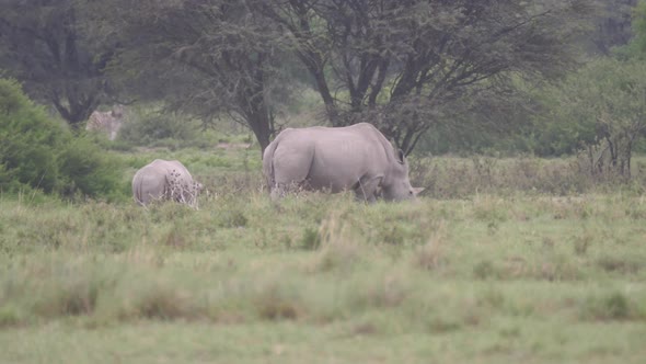
M 197 208 L 201 184 L 177 160 L 155 159 L 132 178 L 135 201 L 142 206 L 152 201 L 176 201 Z

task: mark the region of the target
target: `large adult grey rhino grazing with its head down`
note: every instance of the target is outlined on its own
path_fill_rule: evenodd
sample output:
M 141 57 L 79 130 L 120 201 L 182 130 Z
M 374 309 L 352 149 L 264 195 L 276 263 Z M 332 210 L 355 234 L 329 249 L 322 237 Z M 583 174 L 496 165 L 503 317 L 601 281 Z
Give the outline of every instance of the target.
M 287 128 L 263 153 L 272 198 L 291 187 L 332 193 L 353 190 L 359 200 L 413 200 L 423 189 L 408 181 L 408 163 L 374 126 Z

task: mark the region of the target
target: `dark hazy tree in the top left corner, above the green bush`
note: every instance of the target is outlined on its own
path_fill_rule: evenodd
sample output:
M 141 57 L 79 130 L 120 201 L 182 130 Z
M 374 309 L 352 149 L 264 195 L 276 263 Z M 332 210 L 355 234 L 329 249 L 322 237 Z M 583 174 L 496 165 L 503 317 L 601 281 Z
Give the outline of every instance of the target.
M 103 71 L 113 55 L 84 37 L 74 0 L 0 1 L 0 68 L 73 129 L 114 94 Z

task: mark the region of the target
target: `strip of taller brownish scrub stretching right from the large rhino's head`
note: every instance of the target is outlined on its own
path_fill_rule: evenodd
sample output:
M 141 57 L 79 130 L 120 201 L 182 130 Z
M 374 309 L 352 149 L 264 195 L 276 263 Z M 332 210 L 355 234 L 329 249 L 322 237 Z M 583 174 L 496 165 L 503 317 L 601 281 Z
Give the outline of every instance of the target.
M 477 193 L 576 195 L 619 190 L 643 194 L 646 163 L 637 158 L 634 164 L 628 179 L 612 170 L 592 173 L 585 158 L 577 157 L 427 157 L 411 160 L 411 180 L 414 185 L 426 187 L 424 195 L 436 198 L 460 198 Z

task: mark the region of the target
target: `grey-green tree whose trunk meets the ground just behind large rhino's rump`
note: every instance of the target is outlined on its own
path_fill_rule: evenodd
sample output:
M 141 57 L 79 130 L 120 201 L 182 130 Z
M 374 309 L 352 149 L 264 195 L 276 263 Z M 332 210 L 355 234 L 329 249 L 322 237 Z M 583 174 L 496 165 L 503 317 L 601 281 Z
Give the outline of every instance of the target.
M 113 66 L 143 92 L 205 120 L 229 113 L 249 126 L 261 149 L 274 134 L 272 93 L 282 54 L 280 33 L 254 11 L 262 0 L 93 3 L 109 14 L 100 33 L 123 45 Z

